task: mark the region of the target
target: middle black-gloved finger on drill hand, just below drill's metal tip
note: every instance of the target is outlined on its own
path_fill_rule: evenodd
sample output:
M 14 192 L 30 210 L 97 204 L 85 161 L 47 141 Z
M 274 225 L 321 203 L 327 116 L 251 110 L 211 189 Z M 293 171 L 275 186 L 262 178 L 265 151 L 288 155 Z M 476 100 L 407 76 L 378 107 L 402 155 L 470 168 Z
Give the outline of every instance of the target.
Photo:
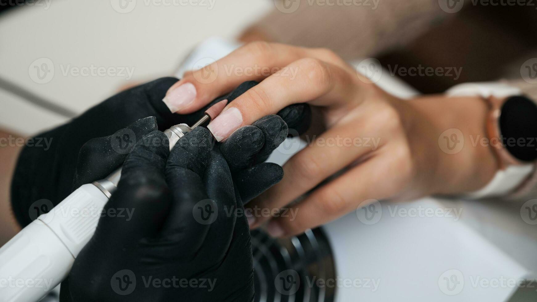
M 211 149 L 211 134 L 198 127 L 179 139 L 166 163 L 166 181 L 173 203 L 161 237 L 181 244 L 183 254 L 199 249 L 214 217 L 214 203 L 209 200 L 203 181 Z

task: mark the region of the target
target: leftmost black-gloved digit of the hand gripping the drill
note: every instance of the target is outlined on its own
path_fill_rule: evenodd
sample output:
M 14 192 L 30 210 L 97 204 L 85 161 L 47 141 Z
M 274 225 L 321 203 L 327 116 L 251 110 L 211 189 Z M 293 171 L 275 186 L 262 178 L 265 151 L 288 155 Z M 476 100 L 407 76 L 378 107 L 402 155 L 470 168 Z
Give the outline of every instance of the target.
M 135 145 L 125 159 L 118 189 L 106 204 L 94 237 L 108 238 L 113 233 L 107 244 L 120 246 L 135 246 L 142 238 L 155 237 L 171 203 L 164 176 L 168 154 L 168 137 L 160 131 L 151 132 Z

